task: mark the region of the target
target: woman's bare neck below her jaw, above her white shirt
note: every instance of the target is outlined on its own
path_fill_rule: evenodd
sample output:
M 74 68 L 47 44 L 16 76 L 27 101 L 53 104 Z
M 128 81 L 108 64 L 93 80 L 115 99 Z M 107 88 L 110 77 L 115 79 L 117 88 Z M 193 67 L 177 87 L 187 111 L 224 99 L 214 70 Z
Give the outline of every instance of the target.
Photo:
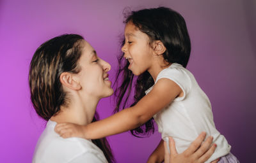
M 72 96 L 72 100 L 68 106 L 61 106 L 59 113 L 52 116 L 51 120 L 57 123 L 73 123 L 79 125 L 87 125 L 92 122 L 95 114 L 96 106 L 99 100 L 88 98 L 81 98 L 76 95 Z

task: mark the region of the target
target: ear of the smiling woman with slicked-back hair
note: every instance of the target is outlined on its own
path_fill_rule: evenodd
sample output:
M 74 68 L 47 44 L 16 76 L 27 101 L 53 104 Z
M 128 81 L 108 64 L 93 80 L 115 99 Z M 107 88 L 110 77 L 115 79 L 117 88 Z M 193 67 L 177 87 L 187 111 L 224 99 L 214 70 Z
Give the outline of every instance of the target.
M 61 84 L 68 87 L 69 89 L 72 89 L 72 90 L 81 89 L 80 83 L 74 80 L 74 74 L 72 73 L 68 73 L 68 72 L 61 73 L 60 82 Z

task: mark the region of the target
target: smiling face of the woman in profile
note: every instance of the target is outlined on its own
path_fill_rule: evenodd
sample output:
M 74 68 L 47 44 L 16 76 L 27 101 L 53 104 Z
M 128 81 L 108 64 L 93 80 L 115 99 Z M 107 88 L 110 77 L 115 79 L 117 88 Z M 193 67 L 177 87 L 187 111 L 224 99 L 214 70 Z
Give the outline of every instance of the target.
M 77 74 L 77 78 L 83 94 L 98 99 L 111 96 L 113 89 L 111 89 L 111 81 L 108 78 L 108 71 L 111 66 L 97 56 L 97 53 L 87 41 L 83 40 L 81 46 L 82 54 L 79 59 L 81 71 Z

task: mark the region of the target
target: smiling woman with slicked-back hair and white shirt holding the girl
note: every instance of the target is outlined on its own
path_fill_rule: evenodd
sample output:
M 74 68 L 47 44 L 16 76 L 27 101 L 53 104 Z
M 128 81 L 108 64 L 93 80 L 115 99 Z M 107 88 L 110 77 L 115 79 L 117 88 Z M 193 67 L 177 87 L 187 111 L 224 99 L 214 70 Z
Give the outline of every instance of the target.
M 52 38 L 36 50 L 29 67 L 31 101 L 36 113 L 48 122 L 36 145 L 34 163 L 115 162 L 105 138 L 63 139 L 54 132 L 56 123 L 86 125 L 97 120 L 99 100 L 113 94 L 108 80 L 110 68 L 77 34 Z M 204 137 L 196 139 L 196 145 Z M 175 155 L 178 159 L 173 157 L 173 162 L 207 160 L 214 148 L 208 150 L 211 139 L 206 142 L 198 150 L 198 146 L 191 145 L 187 153 Z

